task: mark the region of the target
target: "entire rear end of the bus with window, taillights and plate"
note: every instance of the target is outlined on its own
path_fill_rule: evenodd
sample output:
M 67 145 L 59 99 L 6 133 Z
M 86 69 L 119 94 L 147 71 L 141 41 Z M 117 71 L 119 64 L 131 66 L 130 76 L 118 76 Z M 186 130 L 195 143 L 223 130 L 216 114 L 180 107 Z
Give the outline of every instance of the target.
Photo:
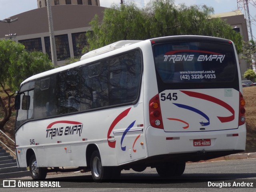
M 200 36 L 151 42 L 158 94 L 149 102 L 148 155 L 198 161 L 244 151 L 245 110 L 234 44 Z

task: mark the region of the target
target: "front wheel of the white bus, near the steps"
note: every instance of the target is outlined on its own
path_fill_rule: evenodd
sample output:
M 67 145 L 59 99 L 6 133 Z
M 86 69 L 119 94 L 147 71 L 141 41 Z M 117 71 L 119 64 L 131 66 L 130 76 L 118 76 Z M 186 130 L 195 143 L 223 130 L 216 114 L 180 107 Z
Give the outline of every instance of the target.
M 33 180 L 44 180 L 47 175 L 46 168 L 38 167 L 35 154 L 30 157 L 29 171 Z

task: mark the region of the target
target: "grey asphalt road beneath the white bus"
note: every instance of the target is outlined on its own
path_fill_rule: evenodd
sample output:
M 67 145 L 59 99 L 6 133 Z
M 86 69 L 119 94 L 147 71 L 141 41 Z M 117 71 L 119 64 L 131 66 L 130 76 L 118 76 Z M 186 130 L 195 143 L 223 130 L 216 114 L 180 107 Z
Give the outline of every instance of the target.
M 30 177 L 17 178 L 31 180 Z M 154 168 L 143 172 L 123 170 L 119 180 L 95 183 L 90 173 L 68 173 L 48 175 L 46 181 L 59 182 L 61 188 L 51 188 L 50 191 L 256 191 L 256 158 L 242 160 L 222 160 L 186 164 L 182 176 L 161 179 Z M 244 187 L 244 185 L 250 185 Z M 252 185 L 252 186 L 251 186 Z M 64 189 L 65 188 L 65 189 Z M 17 191 L 1 188 L 4 191 Z M 49 188 L 19 188 L 19 192 L 48 192 Z

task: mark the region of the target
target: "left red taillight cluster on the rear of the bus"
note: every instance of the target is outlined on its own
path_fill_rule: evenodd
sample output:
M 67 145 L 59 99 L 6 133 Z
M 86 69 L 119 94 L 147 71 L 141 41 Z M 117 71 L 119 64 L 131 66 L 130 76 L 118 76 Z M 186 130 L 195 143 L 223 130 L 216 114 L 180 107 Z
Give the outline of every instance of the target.
M 158 94 L 149 101 L 149 120 L 152 127 L 164 129 Z

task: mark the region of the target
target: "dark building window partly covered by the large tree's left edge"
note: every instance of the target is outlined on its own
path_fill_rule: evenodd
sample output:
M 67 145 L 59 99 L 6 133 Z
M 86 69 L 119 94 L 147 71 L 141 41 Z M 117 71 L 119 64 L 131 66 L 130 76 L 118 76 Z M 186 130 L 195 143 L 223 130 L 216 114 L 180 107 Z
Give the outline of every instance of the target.
M 72 33 L 72 44 L 75 57 L 80 57 L 82 49 L 88 45 L 85 34 L 86 32 Z

